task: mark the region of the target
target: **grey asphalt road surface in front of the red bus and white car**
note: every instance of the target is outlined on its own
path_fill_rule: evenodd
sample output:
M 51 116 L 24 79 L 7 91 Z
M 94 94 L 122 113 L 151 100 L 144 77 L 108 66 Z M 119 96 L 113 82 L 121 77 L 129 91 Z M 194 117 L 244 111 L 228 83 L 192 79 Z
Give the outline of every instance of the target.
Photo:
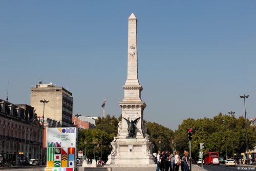
M 254 166 L 246 166 L 246 165 L 236 165 L 228 166 L 226 167 L 224 164 L 221 165 L 204 165 L 204 168 L 208 171 L 232 171 L 232 170 L 256 170 L 256 167 Z

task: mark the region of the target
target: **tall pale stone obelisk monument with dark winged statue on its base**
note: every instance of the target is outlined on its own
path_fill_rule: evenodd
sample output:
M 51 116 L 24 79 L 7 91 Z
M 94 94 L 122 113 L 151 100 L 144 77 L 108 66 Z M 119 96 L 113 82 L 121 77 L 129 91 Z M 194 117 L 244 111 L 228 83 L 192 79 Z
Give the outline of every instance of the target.
M 143 111 L 146 104 L 141 100 L 142 87 L 138 80 L 137 19 L 132 13 L 128 18 L 127 79 L 123 86 L 124 98 L 119 105 L 122 121 L 118 134 L 111 142 L 112 152 L 106 164 L 118 166 L 154 165 L 152 143 L 147 135 Z M 131 125 L 133 134 L 131 136 Z

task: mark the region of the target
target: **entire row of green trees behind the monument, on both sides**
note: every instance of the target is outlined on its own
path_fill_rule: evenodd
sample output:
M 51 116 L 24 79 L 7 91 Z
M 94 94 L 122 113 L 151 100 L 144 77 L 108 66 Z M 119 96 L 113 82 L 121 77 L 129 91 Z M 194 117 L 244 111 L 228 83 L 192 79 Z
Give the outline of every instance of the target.
M 84 141 L 87 141 L 86 155 L 93 158 L 94 152 L 96 158 L 101 156 L 104 160 L 110 154 L 110 143 L 114 136 L 117 135 L 118 122 L 122 120 L 122 115 L 118 117 L 106 115 L 105 118 L 98 117 L 96 120 L 96 129 L 79 130 L 78 131 L 78 150 L 84 152 Z M 244 117 L 238 118 L 232 115 L 223 115 L 219 113 L 214 118 L 188 118 L 178 126 L 175 132 L 155 122 L 147 122 L 147 134 L 153 143 L 153 153 L 156 153 L 161 146 L 161 149 L 172 149 L 172 140 L 175 141 L 176 149 L 182 154 L 183 150 L 189 149 L 189 141 L 187 139 L 187 131 L 189 128 L 193 129 L 193 139 L 191 141 L 191 156 L 194 159 L 199 158 L 200 142 L 204 142 L 204 153 L 219 152 L 220 156 L 232 156 L 232 142 L 234 147 L 234 154 L 244 153 L 246 150 L 246 129 L 248 148 L 253 149 L 255 146 L 256 132 L 250 126 L 249 120 L 245 122 Z M 232 131 L 233 130 L 233 131 Z M 96 145 L 93 144 L 96 140 Z M 101 145 L 102 140 L 102 145 Z M 161 140 L 161 144 L 159 144 Z M 99 147 L 97 147 L 99 144 Z

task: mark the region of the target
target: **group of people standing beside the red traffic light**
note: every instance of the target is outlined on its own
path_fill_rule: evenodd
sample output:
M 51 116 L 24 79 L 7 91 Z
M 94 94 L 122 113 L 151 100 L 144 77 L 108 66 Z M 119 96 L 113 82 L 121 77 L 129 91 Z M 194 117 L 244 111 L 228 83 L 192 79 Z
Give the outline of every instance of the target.
M 158 151 L 156 171 L 178 171 L 181 166 L 182 171 L 189 170 L 188 152 L 184 151 L 184 156 L 180 158 L 179 151 L 170 153 L 170 151 Z

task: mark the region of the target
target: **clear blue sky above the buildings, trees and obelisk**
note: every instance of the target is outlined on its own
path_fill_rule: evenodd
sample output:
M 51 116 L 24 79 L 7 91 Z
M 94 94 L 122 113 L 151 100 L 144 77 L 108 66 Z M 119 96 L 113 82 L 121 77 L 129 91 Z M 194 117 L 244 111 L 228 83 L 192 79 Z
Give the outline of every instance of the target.
M 138 19 L 144 119 L 177 129 L 219 112 L 256 116 L 256 1 L 0 1 L 0 98 L 30 104 L 39 80 L 73 111 L 119 116 L 127 18 Z

